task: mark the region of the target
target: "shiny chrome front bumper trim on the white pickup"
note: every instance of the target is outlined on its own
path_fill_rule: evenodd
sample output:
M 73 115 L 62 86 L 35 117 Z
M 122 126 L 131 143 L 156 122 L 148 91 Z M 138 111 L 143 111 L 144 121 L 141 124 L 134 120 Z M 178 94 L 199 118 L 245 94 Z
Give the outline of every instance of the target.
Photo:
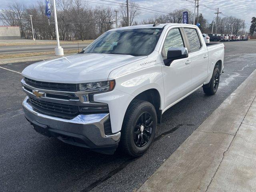
M 67 120 L 67 119 L 62 119 L 62 118 L 57 118 L 57 117 L 40 114 L 33 110 L 32 106 L 30 106 L 30 104 L 28 103 L 27 100 L 28 100 L 28 96 L 26 96 L 26 98 L 22 102 L 22 106 L 29 112 L 35 114 L 36 116 L 46 118 L 49 120 L 57 120 L 57 121 L 67 122 L 67 123 L 72 123 L 72 124 L 81 124 L 81 125 L 93 124 L 100 130 L 100 135 L 103 138 L 112 138 L 114 141 L 117 141 L 120 138 L 120 135 L 121 135 L 120 132 L 117 132 L 112 135 L 105 135 L 104 122 L 109 118 L 109 113 L 78 115 L 71 120 Z

